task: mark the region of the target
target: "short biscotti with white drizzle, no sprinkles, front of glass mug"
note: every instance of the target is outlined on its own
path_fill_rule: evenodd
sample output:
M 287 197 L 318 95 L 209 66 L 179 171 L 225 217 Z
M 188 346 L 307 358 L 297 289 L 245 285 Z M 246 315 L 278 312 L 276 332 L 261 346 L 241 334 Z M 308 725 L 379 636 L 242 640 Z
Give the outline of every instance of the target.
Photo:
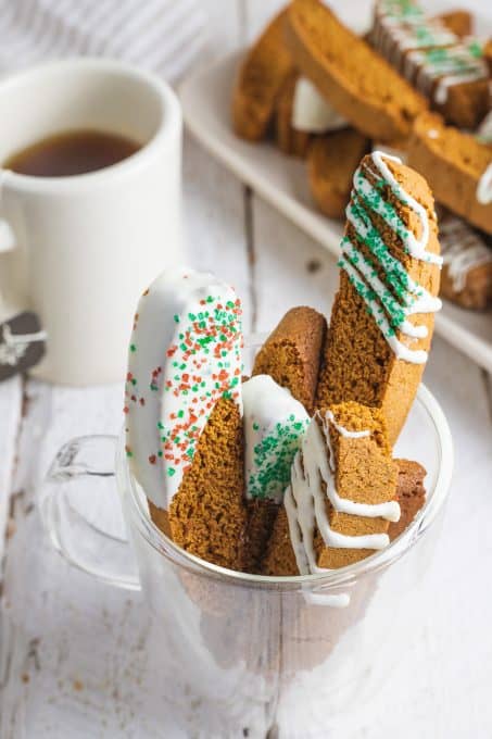
M 389 544 L 389 522 L 400 518 L 398 469 L 378 409 L 348 402 L 314 416 L 295 456 L 285 512 L 297 569 L 335 569 Z M 283 524 L 282 524 L 283 521 Z M 265 569 L 279 566 L 274 535 Z M 283 566 L 292 563 L 288 558 Z

